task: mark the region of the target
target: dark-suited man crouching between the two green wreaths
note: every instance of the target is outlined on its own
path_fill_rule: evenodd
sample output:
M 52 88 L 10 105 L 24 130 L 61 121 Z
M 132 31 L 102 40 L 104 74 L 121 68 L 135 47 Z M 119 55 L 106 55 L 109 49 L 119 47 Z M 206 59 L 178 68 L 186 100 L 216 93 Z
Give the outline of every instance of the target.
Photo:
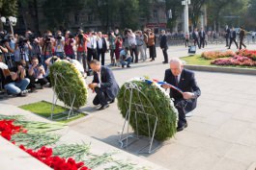
M 94 80 L 89 87 L 97 94 L 93 104 L 101 105 L 100 109 L 106 109 L 109 107 L 108 102 L 110 104 L 115 102 L 119 86 L 113 72 L 109 68 L 101 66 L 100 61 L 90 61 L 90 67 L 94 71 Z

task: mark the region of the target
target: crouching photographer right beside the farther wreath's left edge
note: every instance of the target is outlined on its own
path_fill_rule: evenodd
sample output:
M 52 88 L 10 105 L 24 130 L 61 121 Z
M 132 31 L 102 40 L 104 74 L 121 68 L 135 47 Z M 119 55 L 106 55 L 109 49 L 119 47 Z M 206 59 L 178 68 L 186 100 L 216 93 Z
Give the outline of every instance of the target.
M 35 84 L 43 85 L 48 83 L 45 79 L 45 71 L 43 65 L 39 63 L 38 58 L 32 58 L 32 64 L 29 66 L 28 74 L 30 76 L 30 84 L 35 87 Z

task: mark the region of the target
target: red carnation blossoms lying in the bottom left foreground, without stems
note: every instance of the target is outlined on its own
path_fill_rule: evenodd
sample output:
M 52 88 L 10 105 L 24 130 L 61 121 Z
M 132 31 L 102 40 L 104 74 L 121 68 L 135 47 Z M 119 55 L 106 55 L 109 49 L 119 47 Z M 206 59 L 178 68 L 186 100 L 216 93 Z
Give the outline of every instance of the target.
M 15 126 L 14 120 L 0 120 L 0 134 L 7 140 L 12 139 L 13 134 L 26 133 L 21 126 Z M 15 144 L 15 142 L 13 142 Z M 43 146 L 38 151 L 32 149 L 26 149 L 23 145 L 19 146 L 20 149 L 27 152 L 34 158 L 39 159 L 54 170 L 89 170 L 84 166 L 83 162 L 76 163 L 72 158 L 60 158 L 58 156 L 52 156 L 52 148 L 46 148 Z

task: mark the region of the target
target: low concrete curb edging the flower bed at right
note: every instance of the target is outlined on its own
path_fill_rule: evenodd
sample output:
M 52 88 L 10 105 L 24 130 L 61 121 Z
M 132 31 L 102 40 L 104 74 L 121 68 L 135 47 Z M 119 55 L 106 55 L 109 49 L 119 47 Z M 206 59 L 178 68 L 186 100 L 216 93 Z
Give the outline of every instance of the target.
M 256 69 L 248 69 L 248 68 L 232 68 L 232 67 L 205 66 L 205 65 L 185 65 L 185 68 L 190 70 L 196 70 L 196 71 L 256 75 Z

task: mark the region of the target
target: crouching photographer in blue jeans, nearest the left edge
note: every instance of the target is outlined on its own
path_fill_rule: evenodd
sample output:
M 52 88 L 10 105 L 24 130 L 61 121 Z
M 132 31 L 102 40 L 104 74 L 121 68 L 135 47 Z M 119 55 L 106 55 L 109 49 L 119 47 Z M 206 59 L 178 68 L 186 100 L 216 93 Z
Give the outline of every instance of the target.
M 17 96 L 26 96 L 27 86 L 30 80 L 25 78 L 26 70 L 21 62 L 16 63 L 16 67 L 10 70 L 10 75 L 5 79 L 5 89 L 9 94 Z

